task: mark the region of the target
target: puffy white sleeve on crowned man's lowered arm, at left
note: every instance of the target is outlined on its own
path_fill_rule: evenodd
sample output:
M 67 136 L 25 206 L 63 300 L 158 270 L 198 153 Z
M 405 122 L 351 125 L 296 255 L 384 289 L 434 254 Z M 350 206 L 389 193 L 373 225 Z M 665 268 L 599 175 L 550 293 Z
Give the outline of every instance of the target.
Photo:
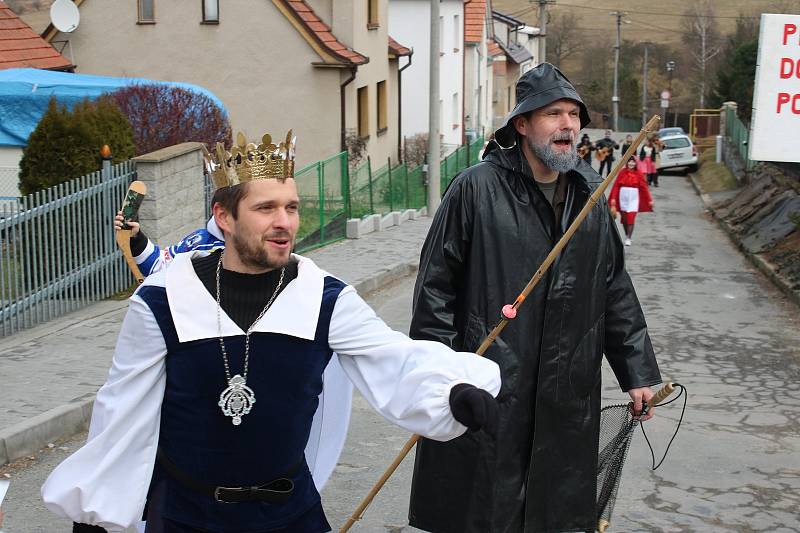
M 89 440 L 42 486 L 50 511 L 110 532 L 141 519 L 158 446 L 166 351 L 152 312 L 132 296 L 95 399 Z

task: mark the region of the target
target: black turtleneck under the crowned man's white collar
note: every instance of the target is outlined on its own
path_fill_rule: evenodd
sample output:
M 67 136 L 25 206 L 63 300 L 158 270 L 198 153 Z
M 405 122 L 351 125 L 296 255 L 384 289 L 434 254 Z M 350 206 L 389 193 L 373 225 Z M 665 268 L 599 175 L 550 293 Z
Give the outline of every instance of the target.
M 217 251 L 192 259 L 192 266 L 194 266 L 197 277 L 200 278 L 214 299 L 217 297 L 216 272 L 221 253 L 221 251 Z M 280 268 L 263 274 L 242 274 L 223 268 L 219 277 L 220 292 L 222 293 L 220 306 L 236 322 L 236 325 L 242 328 L 242 331 L 247 332 L 247 328 L 267 305 L 280 277 Z M 286 273 L 278 293 L 280 294 L 286 285 L 296 277 L 297 263 L 290 261 L 286 265 Z

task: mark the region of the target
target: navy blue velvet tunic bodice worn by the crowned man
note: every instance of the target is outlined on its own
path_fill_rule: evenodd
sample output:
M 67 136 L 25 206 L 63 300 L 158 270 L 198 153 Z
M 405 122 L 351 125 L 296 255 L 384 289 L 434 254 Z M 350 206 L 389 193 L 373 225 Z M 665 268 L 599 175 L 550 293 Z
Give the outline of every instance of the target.
M 167 346 L 159 434 L 165 455 L 192 478 L 226 487 L 262 485 L 301 464 L 291 476 L 295 488 L 286 503 L 231 504 L 187 489 L 156 463 L 151 488 L 166 485 L 159 502 L 164 518 L 209 531 L 260 533 L 290 527 L 299 517 L 308 522 L 304 515 L 316 508 L 321 516 L 311 522 L 327 524 L 303 452 L 322 392 L 322 374 L 332 355 L 331 315 L 344 287 L 333 277 L 325 278 L 313 341 L 276 333 L 250 335 L 247 386 L 256 402 L 239 426 L 218 405 L 227 387 L 219 339 L 179 342 L 165 289 L 139 290 Z M 243 373 L 244 340 L 244 335 L 225 338 L 231 375 Z M 323 531 L 314 527 L 305 526 L 297 533 Z

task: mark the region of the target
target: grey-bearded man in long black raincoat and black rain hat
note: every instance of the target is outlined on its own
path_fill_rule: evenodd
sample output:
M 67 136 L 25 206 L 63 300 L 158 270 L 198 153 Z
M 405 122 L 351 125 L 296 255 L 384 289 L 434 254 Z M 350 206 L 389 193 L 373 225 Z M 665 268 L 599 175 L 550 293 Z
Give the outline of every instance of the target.
M 550 64 L 483 161 L 459 175 L 420 259 L 411 336 L 474 350 L 600 183 L 575 151 L 589 122 Z M 500 366 L 496 437 L 417 446 L 409 521 L 436 533 L 594 531 L 603 353 L 635 410 L 661 381 L 605 198 L 486 352 Z

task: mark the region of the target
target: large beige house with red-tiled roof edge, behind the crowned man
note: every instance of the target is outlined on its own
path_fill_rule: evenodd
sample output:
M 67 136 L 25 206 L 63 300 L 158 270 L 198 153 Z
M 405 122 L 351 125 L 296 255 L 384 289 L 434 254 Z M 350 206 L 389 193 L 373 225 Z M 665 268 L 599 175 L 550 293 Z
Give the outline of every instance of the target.
M 389 36 L 388 0 L 73 1 L 80 26 L 42 36 L 69 42 L 77 72 L 203 86 L 248 138 L 293 129 L 300 166 L 348 138 L 373 160 L 397 160 L 411 49 Z

